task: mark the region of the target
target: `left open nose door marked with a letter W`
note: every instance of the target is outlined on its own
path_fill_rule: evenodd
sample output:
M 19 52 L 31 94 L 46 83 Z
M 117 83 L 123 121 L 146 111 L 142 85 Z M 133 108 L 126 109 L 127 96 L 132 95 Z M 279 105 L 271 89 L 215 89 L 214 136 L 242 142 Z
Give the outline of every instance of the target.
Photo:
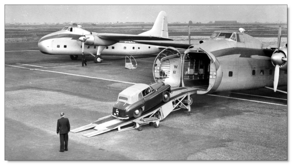
M 155 81 L 169 84 L 171 88 L 181 86 L 181 53 L 183 52 L 168 47 L 157 55 L 153 65 Z

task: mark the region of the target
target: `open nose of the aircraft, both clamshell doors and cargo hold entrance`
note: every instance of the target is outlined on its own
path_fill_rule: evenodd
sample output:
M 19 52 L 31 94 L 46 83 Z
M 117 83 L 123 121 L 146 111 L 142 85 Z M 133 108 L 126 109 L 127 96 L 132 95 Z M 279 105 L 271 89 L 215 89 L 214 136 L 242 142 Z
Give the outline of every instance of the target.
M 203 49 L 190 48 L 186 51 L 168 47 L 156 57 L 153 77 L 176 87 L 197 87 L 197 94 L 214 92 L 223 76 L 220 63 L 215 56 Z

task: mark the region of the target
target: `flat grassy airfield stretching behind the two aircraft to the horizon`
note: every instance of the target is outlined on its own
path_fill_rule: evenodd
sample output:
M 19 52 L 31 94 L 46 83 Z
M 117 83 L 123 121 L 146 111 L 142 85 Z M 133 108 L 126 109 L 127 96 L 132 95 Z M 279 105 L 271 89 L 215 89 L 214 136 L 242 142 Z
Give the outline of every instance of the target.
M 61 30 L 64 26 L 71 25 L 6 25 L 5 43 L 38 41 L 44 35 Z M 287 43 L 287 25 L 282 26 L 281 43 Z M 206 40 L 216 30 L 237 31 L 240 27 L 246 33 L 258 38 L 263 43 L 276 43 L 279 25 L 191 25 L 191 39 L 194 41 Z M 101 24 L 97 26 L 83 25 L 83 29 L 90 32 L 108 32 L 122 34 L 140 34 L 152 28 L 152 24 L 146 25 L 121 25 L 121 24 Z M 168 34 L 174 40 L 188 40 L 187 24 L 169 24 Z

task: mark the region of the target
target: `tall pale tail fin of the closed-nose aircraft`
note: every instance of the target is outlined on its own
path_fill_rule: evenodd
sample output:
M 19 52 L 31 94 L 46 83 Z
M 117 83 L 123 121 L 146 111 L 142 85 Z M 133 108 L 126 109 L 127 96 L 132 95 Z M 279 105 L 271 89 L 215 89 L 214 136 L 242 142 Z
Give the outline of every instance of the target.
M 167 16 L 165 11 L 160 11 L 151 30 L 139 35 L 149 35 L 168 38 Z

